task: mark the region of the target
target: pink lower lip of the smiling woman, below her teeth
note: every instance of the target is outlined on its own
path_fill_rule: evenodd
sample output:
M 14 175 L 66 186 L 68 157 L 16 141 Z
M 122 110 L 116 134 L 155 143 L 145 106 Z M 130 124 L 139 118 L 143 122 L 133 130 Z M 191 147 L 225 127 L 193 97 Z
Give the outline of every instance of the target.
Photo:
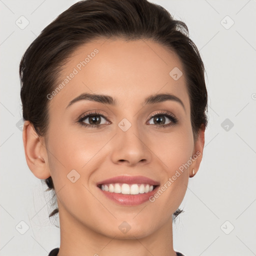
M 101 192 L 109 199 L 115 201 L 121 205 L 138 205 L 149 201 L 149 197 L 155 193 L 157 186 L 150 192 L 147 193 L 138 193 L 138 194 L 122 194 L 122 193 L 113 193 L 109 191 L 101 190 Z

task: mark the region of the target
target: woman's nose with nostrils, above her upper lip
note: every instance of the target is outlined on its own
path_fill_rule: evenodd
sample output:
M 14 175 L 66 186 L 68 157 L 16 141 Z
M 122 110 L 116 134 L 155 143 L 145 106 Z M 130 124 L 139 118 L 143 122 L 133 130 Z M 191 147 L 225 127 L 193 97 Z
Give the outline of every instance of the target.
M 111 150 L 111 160 L 115 164 L 134 166 L 146 164 L 151 160 L 151 151 L 146 145 L 146 134 L 138 130 L 136 125 L 123 131 L 117 127 Z

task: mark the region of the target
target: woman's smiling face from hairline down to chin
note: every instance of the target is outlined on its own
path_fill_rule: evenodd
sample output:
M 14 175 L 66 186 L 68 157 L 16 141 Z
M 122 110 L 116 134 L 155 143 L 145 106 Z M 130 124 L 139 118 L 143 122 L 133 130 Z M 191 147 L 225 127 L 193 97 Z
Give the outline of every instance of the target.
M 60 224 L 116 238 L 144 237 L 169 226 L 203 147 L 202 141 L 193 140 L 177 55 L 150 40 L 93 41 L 72 54 L 56 88 L 48 95 L 45 164 L 57 192 Z M 105 97 L 79 97 L 87 93 Z M 198 157 L 191 161 L 194 155 Z M 126 176 L 120 182 L 105 182 L 116 193 L 98 187 L 120 175 Z M 128 181 L 127 176 L 144 176 L 158 186 L 145 193 L 140 184 L 147 189 L 153 182 Z M 121 187 L 126 181 L 128 187 Z M 125 187 L 141 193 L 123 194 Z

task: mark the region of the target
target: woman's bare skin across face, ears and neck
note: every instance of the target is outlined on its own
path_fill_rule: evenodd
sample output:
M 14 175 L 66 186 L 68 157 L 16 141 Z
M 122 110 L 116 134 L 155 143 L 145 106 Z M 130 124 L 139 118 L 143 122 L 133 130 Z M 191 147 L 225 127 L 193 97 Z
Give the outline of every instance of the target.
M 57 192 L 58 255 L 174 256 L 172 214 L 185 195 L 192 169 L 199 168 L 204 145 L 204 128 L 193 140 L 182 63 L 150 40 L 96 40 L 76 49 L 58 83 L 95 48 L 95 57 L 49 100 L 47 136 L 38 137 L 28 121 L 23 127 L 30 170 L 40 179 L 51 176 Z M 169 75 L 174 67 L 183 72 L 178 80 Z M 83 92 L 110 95 L 119 104 L 80 100 L 66 108 Z M 143 105 L 146 96 L 165 92 L 179 97 L 184 108 L 173 100 Z M 102 126 L 93 128 L 75 122 L 95 109 L 110 122 L 102 117 Z M 174 114 L 179 122 L 157 128 L 161 124 L 151 116 L 159 110 Z M 131 123 L 127 131 L 117 125 L 123 118 Z M 88 118 L 83 122 L 93 124 Z M 164 124 L 170 122 L 165 117 Z M 125 174 L 143 175 L 162 185 L 196 151 L 201 154 L 154 202 L 119 205 L 96 187 L 98 181 Z M 80 175 L 74 183 L 67 178 L 72 169 Z M 118 228 L 123 221 L 130 225 L 126 233 Z

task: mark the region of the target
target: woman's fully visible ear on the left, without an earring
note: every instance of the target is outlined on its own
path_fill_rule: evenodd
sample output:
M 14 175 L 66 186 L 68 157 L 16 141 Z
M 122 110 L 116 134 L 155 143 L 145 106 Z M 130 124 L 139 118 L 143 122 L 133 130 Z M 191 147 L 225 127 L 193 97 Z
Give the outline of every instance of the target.
M 29 169 L 37 178 L 48 178 L 50 172 L 47 165 L 47 150 L 44 140 L 38 136 L 33 125 L 27 120 L 24 121 L 22 138 Z

